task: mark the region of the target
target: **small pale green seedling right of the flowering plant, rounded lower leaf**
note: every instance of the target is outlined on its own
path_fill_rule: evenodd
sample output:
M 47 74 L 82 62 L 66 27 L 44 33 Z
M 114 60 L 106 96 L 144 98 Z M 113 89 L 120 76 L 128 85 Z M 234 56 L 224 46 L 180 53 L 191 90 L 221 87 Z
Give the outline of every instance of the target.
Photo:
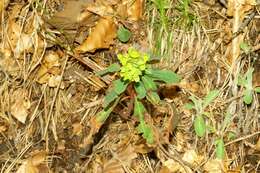
M 196 117 L 194 120 L 194 129 L 196 135 L 199 137 L 204 137 L 207 130 L 207 126 L 203 116 L 205 115 L 207 116 L 209 113 L 206 112 L 205 109 L 215 98 L 217 98 L 218 95 L 219 95 L 218 90 L 210 91 L 204 99 L 196 98 L 195 96 L 192 95 L 189 98 L 193 103 L 185 105 L 187 109 L 195 109 L 196 111 Z

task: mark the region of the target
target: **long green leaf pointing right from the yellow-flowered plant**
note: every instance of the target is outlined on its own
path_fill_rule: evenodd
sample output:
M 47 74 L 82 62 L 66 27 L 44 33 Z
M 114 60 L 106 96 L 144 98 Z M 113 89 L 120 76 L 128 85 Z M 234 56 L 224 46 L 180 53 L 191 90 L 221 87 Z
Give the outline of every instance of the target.
M 163 81 L 165 83 L 178 83 L 181 80 L 181 77 L 176 73 L 170 70 L 158 70 L 158 69 L 151 69 L 147 74 L 150 77 L 154 78 L 158 81 Z

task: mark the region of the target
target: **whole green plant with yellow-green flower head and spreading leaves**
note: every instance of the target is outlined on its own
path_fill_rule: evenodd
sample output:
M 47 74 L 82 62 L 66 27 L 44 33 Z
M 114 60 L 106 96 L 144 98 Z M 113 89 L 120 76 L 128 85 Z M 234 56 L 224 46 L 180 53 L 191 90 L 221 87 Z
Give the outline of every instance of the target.
M 134 94 L 130 97 L 134 100 L 133 115 L 139 120 L 137 131 L 142 134 L 148 144 L 153 144 L 154 133 L 152 125 L 146 122 L 149 114 L 143 102 L 147 100 L 153 105 L 159 105 L 161 100 L 157 94 L 158 82 L 178 83 L 181 78 L 170 70 L 152 68 L 149 64 L 149 55 L 134 48 L 129 48 L 126 54 L 118 54 L 118 59 L 120 64 L 112 64 L 97 73 L 98 75 L 117 73 L 119 79 L 112 82 L 112 87 L 104 99 L 104 109 L 98 113 L 96 120 L 104 123 L 112 109 L 119 103 L 127 87 L 132 85 Z

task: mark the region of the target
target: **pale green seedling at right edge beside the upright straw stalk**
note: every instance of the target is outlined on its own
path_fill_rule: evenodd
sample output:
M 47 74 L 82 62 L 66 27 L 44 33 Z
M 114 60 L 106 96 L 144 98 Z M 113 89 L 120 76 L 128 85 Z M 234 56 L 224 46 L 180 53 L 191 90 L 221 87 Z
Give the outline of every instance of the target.
M 243 100 L 249 105 L 253 101 L 253 92 L 260 93 L 260 87 L 253 87 L 254 68 L 250 67 L 244 76 L 239 76 L 238 85 L 244 88 Z

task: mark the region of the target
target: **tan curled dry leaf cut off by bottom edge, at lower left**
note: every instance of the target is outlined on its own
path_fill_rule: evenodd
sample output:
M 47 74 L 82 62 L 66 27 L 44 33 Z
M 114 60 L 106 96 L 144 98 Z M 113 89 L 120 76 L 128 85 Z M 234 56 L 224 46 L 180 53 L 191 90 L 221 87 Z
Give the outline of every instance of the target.
M 46 160 L 46 152 L 38 151 L 30 158 L 22 162 L 16 173 L 48 173 L 49 169 Z

